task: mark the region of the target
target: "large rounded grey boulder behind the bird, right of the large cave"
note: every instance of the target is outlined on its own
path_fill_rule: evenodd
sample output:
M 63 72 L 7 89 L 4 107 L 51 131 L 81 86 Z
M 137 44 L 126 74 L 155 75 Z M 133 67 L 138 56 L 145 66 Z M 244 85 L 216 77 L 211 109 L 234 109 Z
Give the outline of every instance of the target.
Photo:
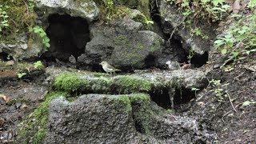
M 142 69 L 155 66 L 162 52 L 162 38 L 149 30 L 141 30 L 142 23 L 131 19 L 114 21 L 111 26 L 93 26 L 92 39 L 78 62 L 98 65 L 107 61 L 123 69 Z

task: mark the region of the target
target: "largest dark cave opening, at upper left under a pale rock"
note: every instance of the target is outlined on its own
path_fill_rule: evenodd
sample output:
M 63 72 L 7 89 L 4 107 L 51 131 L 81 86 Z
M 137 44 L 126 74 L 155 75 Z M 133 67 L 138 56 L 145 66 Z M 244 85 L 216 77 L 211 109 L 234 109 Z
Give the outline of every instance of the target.
M 48 61 L 67 62 L 71 55 L 78 58 L 90 42 L 89 24 L 86 19 L 70 15 L 51 14 L 46 34 L 50 38 L 50 48 L 42 57 Z

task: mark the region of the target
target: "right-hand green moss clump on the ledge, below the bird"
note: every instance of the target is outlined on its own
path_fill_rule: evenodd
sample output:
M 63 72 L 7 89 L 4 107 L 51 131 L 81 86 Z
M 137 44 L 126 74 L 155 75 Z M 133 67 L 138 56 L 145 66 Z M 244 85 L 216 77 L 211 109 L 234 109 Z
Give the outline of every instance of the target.
M 151 88 L 151 83 L 146 79 L 127 75 L 115 78 L 112 88 L 122 94 L 147 92 Z

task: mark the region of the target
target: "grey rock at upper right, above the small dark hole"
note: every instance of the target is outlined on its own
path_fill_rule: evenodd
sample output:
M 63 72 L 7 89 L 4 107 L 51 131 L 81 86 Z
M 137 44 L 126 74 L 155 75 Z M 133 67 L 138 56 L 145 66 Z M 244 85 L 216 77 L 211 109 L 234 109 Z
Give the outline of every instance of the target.
M 173 34 L 174 31 L 174 37 L 181 40 L 182 47 L 187 52 L 192 49 L 195 54 L 202 55 L 210 51 L 214 44 L 213 40 L 216 37 L 214 32 L 216 26 L 210 25 L 209 22 L 202 19 L 197 20 L 197 23 L 192 22 L 191 26 L 184 26 L 182 23 L 186 21 L 186 16 L 178 10 L 178 6 L 165 0 L 160 2 L 159 13 L 162 15 L 163 32 Z M 204 35 L 193 34 L 192 31 L 196 30 L 196 28 L 199 28 Z

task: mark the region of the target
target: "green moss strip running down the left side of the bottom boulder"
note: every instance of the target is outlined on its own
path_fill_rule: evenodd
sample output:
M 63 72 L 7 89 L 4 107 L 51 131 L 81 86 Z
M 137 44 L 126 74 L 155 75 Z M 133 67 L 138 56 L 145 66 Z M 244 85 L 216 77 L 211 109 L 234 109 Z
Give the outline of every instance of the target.
M 46 94 L 45 101 L 40 103 L 32 114 L 27 116 L 18 126 L 18 142 L 22 143 L 41 143 L 46 135 L 45 126 L 48 120 L 49 103 L 61 96 L 66 96 L 63 92 L 53 92 Z

